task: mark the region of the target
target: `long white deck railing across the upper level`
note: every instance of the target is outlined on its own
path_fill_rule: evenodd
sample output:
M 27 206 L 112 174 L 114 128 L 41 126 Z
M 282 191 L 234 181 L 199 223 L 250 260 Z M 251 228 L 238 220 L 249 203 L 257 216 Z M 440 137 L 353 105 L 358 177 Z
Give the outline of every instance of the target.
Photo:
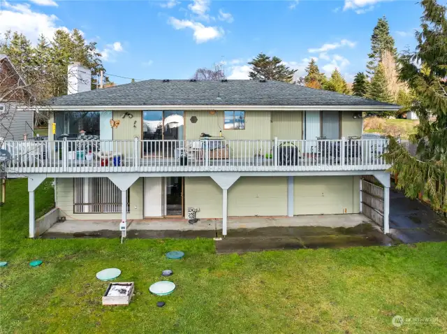
M 8 173 L 384 170 L 386 139 L 10 140 Z

